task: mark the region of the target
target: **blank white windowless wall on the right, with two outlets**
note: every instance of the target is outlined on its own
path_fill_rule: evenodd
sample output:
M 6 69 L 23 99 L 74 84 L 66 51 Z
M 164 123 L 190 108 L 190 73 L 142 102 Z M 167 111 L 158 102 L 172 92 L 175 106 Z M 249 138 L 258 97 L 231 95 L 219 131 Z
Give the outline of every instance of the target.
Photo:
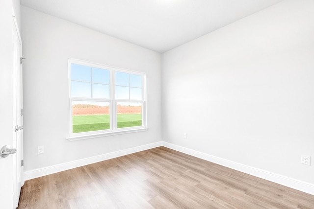
M 285 0 L 164 53 L 163 140 L 313 184 L 313 11 Z

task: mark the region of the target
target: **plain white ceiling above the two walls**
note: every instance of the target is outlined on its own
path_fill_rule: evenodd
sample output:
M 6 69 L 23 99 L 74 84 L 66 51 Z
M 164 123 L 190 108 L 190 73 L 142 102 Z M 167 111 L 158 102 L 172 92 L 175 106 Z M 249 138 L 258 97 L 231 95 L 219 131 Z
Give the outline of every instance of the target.
M 21 0 L 21 4 L 162 53 L 279 1 Z

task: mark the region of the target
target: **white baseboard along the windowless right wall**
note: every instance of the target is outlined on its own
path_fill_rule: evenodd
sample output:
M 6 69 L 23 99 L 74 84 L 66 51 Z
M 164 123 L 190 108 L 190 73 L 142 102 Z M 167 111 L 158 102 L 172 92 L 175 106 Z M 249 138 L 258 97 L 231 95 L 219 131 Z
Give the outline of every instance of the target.
M 299 191 L 303 191 L 303 192 L 314 195 L 314 185 L 311 183 L 292 179 L 292 178 L 289 178 L 287 176 L 272 173 L 269 171 L 265 171 L 265 170 L 251 167 L 248 165 L 244 165 L 241 163 L 235 163 L 233 161 L 218 158 L 218 157 L 206 154 L 206 153 L 198 152 L 198 151 L 188 149 L 188 148 L 185 148 L 182 146 L 178 146 L 178 145 L 175 145 L 172 143 L 168 143 L 165 141 L 162 142 L 162 145 L 164 147 L 167 147 L 167 148 L 170 148 L 173 150 L 177 150 L 179 152 L 183 152 L 185 154 L 192 155 L 194 157 L 201 158 L 203 160 L 206 160 L 206 161 L 209 161 L 212 163 L 220 164 L 220 165 L 223 165 L 225 167 L 229 167 L 229 168 L 232 168 L 234 170 L 250 174 L 252 176 L 256 176 L 256 177 L 259 177 L 259 178 L 262 178 L 262 179 L 265 179 L 265 180 L 268 180 L 268 181 L 271 181 L 271 182 L 274 182 L 274 183 L 277 183 L 280 185 L 288 186 L 290 188 L 297 189 Z

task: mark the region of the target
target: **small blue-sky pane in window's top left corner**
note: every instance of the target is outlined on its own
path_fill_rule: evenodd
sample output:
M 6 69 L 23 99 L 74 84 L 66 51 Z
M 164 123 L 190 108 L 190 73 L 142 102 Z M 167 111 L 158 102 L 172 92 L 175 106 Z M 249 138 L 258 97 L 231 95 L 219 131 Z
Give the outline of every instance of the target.
M 92 68 L 71 63 L 71 80 L 92 81 Z

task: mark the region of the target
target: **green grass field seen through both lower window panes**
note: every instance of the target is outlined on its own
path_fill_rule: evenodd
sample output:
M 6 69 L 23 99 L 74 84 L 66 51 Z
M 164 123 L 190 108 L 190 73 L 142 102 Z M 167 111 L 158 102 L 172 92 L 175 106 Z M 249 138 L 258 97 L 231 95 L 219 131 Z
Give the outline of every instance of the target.
M 118 114 L 118 128 L 141 126 L 142 114 Z M 109 115 L 73 116 L 73 133 L 110 129 Z

